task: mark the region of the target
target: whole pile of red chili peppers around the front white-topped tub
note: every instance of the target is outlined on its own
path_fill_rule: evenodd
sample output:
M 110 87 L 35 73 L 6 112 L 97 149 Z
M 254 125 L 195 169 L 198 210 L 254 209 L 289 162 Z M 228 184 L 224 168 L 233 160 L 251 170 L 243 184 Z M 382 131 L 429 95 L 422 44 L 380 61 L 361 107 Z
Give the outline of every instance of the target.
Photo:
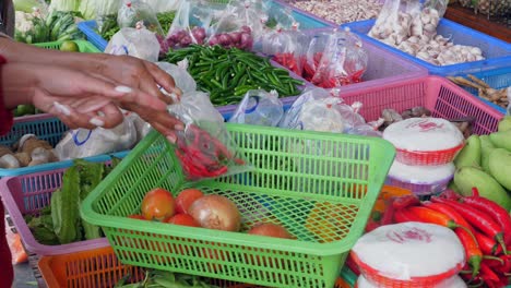
M 500 205 L 479 196 L 476 189 L 473 191 L 472 196 L 461 196 L 448 190 L 423 202 L 415 195 L 393 197 L 381 221 L 371 221 L 366 230 L 406 221 L 453 229 L 465 249 L 466 264 L 461 273 L 465 281 L 471 286 L 504 287 L 511 284 L 511 216 Z

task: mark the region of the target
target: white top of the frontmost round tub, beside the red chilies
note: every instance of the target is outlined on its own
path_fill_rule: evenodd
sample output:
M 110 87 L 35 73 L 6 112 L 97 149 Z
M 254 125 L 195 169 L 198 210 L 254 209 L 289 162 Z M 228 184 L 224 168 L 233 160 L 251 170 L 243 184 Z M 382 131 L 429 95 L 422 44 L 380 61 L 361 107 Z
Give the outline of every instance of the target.
M 465 252 L 449 228 L 425 223 L 381 226 L 364 235 L 352 251 L 380 275 L 409 280 L 461 268 Z

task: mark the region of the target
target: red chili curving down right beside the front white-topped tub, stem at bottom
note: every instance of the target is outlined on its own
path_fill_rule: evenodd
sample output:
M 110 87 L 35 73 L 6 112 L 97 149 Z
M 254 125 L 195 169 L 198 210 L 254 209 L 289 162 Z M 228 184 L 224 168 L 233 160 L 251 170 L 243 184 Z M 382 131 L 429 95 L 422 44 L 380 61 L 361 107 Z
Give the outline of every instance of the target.
M 463 248 L 465 249 L 466 261 L 471 264 L 473 271 L 472 275 L 477 275 L 477 273 L 479 273 L 479 265 L 483 260 L 483 252 L 480 251 L 477 240 L 474 236 L 474 228 L 471 225 L 468 225 L 468 223 L 457 212 L 455 212 L 451 206 L 447 204 L 424 202 L 423 205 L 430 209 L 444 214 L 445 216 L 454 220 L 455 224 L 466 228 L 466 230 L 463 228 L 456 228 L 454 229 L 454 232 L 456 233 L 457 238 L 463 244 Z

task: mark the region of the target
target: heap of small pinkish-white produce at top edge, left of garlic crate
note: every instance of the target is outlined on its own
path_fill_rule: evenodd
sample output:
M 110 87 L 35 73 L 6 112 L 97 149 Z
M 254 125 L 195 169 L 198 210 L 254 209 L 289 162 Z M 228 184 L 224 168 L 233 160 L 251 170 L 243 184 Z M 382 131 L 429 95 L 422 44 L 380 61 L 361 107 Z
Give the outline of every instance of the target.
M 340 25 L 376 19 L 382 5 L 378 0 L 287 0 L 287 2 L 296 8 Z

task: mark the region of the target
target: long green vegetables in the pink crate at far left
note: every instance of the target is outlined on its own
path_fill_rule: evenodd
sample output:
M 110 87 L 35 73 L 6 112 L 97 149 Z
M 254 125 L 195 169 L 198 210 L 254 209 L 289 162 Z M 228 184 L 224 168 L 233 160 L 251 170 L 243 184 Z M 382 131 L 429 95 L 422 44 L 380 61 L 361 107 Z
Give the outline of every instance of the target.
M 75 160 L 62 176 L 62 185 L 51 194 L 51 204 L 25 220 L 37 242 L 46 245 L 67 244 L 103 237 L 98 226 L 80 217 L 80 204 L 119 164 Z

